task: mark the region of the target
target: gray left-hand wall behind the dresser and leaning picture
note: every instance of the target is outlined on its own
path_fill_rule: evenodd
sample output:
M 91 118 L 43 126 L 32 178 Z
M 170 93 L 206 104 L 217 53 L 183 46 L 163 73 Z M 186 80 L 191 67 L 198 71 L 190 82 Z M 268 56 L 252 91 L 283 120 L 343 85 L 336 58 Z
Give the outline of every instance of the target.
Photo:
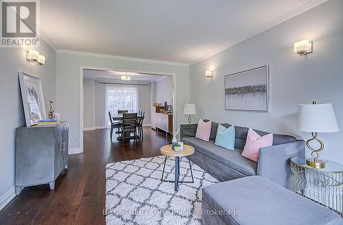
M 45 55 L 45 66 L 28 62 L 25 49 L 0 48 L 0 200 L 14 188 L 15 129 L 25 126 L 18 71 L 42 80 L 46 110 L 49 110 L 49 100 L 56 99 L 56 53 L 42 39 L 36 50 Z

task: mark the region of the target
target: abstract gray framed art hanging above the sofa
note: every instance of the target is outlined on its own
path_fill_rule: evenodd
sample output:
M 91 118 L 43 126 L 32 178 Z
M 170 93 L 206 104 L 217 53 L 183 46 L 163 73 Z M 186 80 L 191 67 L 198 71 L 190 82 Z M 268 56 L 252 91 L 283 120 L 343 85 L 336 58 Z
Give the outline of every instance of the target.
M 225 109 L 269 111 L 268 66 L 226 75 Z

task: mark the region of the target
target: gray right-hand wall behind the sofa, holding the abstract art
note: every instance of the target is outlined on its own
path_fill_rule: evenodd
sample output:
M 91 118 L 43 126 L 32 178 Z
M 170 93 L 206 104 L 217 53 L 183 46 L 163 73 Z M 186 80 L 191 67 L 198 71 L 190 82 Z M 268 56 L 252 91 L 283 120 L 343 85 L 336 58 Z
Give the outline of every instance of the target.
M 313 53 L 294 54 L 293 43 L 305 38 L 314 41 Z M 191 66 L 197 116 L 309 139 L 309 133 L 296 130 L 296 112 L 298 104 L 316 100 L 333 104 L 342 130 L 342 40 L 343 1 L 331 0 Z M 224 75 L 264 64 L 270 65 L 270 112 L 224 110 Z M 213 79 L 204 76 L 209 69 Z M 343 132 L 319 137 L 326 147 L 321 156 L 343 164 Z

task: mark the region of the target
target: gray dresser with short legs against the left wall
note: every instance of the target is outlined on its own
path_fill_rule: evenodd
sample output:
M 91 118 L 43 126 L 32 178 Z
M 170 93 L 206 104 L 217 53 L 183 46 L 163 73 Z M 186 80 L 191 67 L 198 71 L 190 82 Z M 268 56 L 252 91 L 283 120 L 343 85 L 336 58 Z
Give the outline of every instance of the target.
M 23 187 L 49 183 L 68 165 L 68 122 L 58 126 L 16 128 L 16 195 Z

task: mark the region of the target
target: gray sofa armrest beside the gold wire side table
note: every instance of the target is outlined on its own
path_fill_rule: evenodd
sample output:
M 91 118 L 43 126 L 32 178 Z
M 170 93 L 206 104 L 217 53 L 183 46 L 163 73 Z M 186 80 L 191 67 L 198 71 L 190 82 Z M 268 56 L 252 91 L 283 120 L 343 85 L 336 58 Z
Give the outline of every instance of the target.
M 261 147 L 259 149 L 257 175 L 289 189 L 291 176 L 289 158 L 294 156 L 305 157 L 305 141 L 299 140 L 281 145 Z

